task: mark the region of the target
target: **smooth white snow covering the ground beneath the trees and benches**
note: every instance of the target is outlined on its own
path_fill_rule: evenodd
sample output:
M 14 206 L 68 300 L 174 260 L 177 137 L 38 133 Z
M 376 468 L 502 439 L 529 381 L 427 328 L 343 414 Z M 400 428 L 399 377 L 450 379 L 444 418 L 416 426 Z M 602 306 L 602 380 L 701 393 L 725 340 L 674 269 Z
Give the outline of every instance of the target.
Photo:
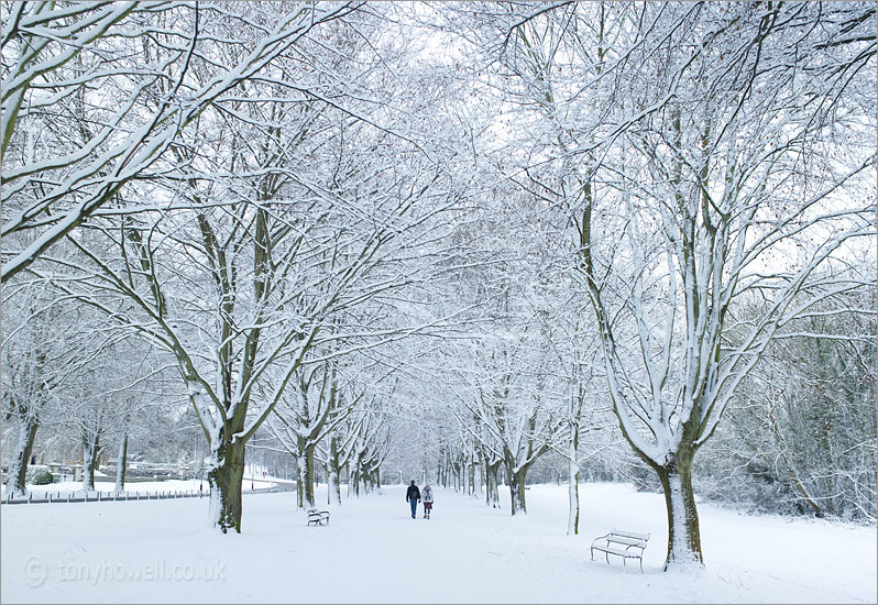
M 435 488 L 411 519 L 404 486 L 328 507 L 307 527 L 295 494 L 244 496 L 243 534 L 206 526 L 199 499 L 3 505 L 4 603 L 876 603 L 875 527 L 753 517 L 701 504 L 703 571 L 661 571 L 660 494 L 581 486 L 527 492 L 527 516 Z M 326 487 L 318 491 L 326 502 Z M 320 508 L 327 508 L 319 505 Z M 613 527 L 649 532 L 644 571 L 589 544 Z

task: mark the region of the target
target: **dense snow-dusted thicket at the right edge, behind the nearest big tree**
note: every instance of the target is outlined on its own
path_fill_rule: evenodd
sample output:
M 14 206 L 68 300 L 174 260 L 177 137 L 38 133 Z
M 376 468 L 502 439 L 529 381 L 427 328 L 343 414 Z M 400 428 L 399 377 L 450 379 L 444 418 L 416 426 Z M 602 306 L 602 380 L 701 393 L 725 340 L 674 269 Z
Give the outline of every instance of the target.
M 875 283 L 874 266 L 869 274 Z M 876 518 L 875 296 L 845 300 L 792 322 L 742 383 L 702 454 L 704 495 L 771 513 Z

